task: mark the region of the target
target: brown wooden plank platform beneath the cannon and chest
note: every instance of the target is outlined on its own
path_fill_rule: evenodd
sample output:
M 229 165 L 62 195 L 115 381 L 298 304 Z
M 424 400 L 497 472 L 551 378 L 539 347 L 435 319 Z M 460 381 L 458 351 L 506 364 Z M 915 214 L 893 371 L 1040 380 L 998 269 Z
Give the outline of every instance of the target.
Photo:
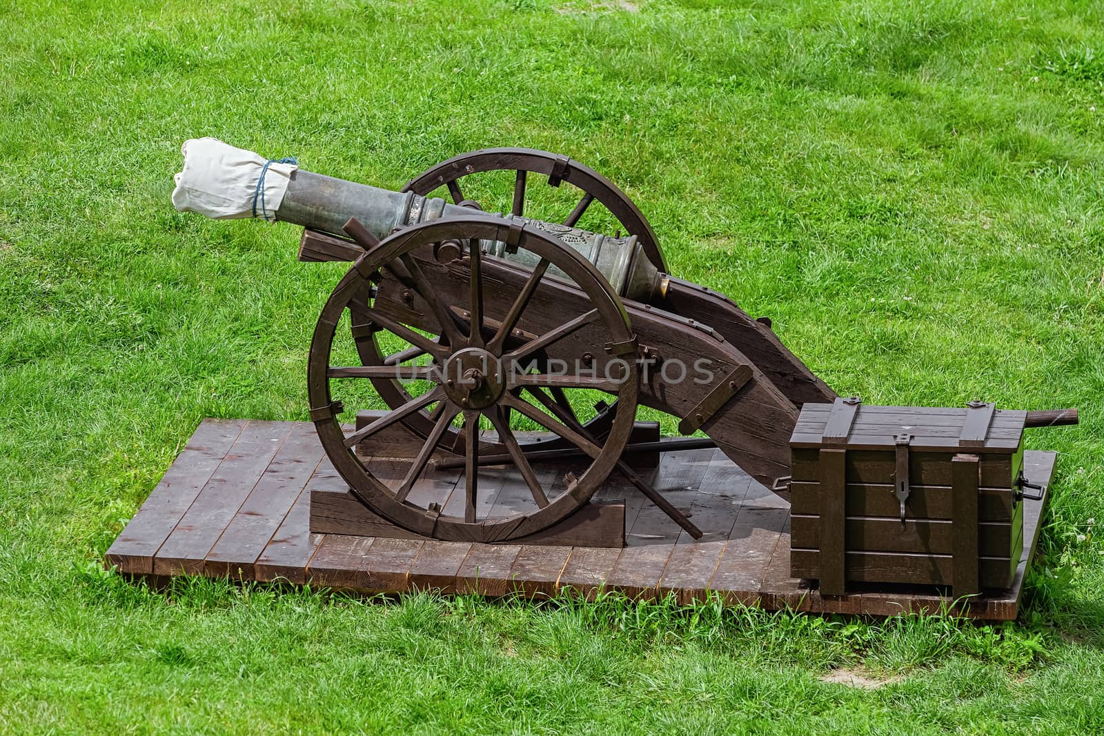
M 1049 484 L 1053 470 L 1053 452 L 1025 452 L 1028 480 Z M 542 598 L 565 588 L 588 597 L 606 588 L 637 598 L 673 594 L 689 604 L 715 591 L 767 609 L 873 616 L 934 611 L 948 602 L 931 586 L 851 586 L 848 595 L 821 596 L 808 580 L 789 577 L 789 504 L 718 450 L 667 454 L 645 474 L 691 512 L 704 532 L 700 540 L 617 478 L 597 498 L 625 501 L 622 550 L 311 534 L 311 493 L 346 489 L 312 426 L 204 419 L 107 551 L 106 564 L 135 576 L 229 576 L 365 594 L 437 589 Z M 1016 618 L 1045 502 L 1023 502 L 1023 555 L 1013 586 L 983 594 L 960 612 Z

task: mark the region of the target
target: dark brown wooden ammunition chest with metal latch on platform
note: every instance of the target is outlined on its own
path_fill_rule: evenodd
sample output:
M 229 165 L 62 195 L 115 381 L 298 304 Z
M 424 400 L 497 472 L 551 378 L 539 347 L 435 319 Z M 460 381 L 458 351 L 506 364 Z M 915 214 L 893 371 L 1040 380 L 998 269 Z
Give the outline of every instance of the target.
M 794 577 L 821 595 L 849 582 L 951 586 L 955 598 L 1007 588 L 1023 548 L 1026 418 L 979 402 L 806 404 L 790 438 Z

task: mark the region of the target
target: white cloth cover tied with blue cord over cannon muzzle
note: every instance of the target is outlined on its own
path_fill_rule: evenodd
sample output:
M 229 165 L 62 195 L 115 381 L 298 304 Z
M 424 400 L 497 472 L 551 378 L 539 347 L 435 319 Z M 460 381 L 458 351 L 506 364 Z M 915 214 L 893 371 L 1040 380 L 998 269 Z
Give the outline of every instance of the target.
M 214 220 L 274 221 L 291 172 L 299 168 L 269 161 L 215 138 L 185 140 L 180 151 L 184 154 L 184 170 L 176 175 L 172 205 L 181 212 L 198 212 Z

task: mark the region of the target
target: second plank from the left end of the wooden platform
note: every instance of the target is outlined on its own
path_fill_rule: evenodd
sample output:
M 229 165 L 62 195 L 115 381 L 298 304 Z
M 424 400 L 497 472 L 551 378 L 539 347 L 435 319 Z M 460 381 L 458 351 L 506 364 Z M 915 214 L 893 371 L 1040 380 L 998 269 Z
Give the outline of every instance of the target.
M 251 422 L 153 558 L 156 575 L 203 573 L 203 561 L 261 480 L 290 422 Z

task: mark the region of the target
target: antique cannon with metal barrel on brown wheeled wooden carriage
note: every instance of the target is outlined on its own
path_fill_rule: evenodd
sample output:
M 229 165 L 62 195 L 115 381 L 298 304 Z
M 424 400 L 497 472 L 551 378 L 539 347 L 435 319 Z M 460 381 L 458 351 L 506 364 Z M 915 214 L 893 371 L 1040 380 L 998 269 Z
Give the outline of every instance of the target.
M 619 472 L 699 536 L 626 452 L 715 445 L 786 492 L 802 407 L 838 403 L 768 319 L 670 275 L 637 206 L 566 157 L 475 151 L 394 192 L 213 139 L 189 141 L 184 154 L 178 209 L 298 224 L 306 228 L 301 260 L 352 263 L 310 345 L 310 419 L 352 493 L 410 533 L 531 537 L 585 506 Z M 505 214 L 485 212 L 487 201 L 468 185 L 468 178 L 496 172 L 510 189 Z M 577 190 L 560 222 L 523 216 L 534 181 Z M 438 189 L 452 202 L 429 196 Z M 596 222 L 625 236 L 577 227 L 599 209 Z M 343 426 L 339 416 L 376 403 L 372 394 L 390 412 L 355 429 Z M 707 438 L 633 442 L 638 406 L 673 415 L 681 434 Z M 492 436 L 482 434 L 481 418 Z M 1026 426 L 1043 422 L 1066 419 L 1029 413 Z M 513 428 L 522 423 L 546 434 Z M 399 472 L 389 472 L 372 460 L 386 454 L 371 444 L 400 425 L 418 445 Z M 580 467 L 554 476 L 534 470 L 549 458 L 574 458 Z M 481 504 L 481 469 L 510 463 L 531 499 L 506 511 Z M 435 487 L 435 472 L 458 467 L 463 492 Z

